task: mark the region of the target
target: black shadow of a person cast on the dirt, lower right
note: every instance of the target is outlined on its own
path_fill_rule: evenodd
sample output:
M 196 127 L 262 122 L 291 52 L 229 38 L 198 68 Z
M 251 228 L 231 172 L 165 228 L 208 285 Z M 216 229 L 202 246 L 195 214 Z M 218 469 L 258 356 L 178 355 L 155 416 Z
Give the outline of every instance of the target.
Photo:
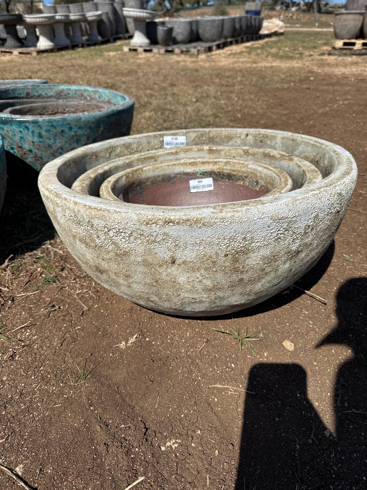
M 248 379 L 236 490 L 367 488 L 366 278 L 343 284 L 336 313 L 337 326 L 318 345 L 347 344 L 354 352 L 336 379 L 336 438 L 307 398 L 301 366 L 254 366 Z

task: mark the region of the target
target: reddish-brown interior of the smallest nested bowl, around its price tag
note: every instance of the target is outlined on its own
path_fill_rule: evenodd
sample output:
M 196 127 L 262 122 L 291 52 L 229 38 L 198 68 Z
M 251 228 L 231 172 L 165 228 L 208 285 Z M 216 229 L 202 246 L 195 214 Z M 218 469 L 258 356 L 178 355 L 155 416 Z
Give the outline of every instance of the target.
M 190 192 L 189 181 L 211 177 L 213 190 Z M 247 185 L 250 184 L 250 185 Z M 179 173 L 159 175 L 138 180 L 124 188 L 115 189 L 115 196 L 125 202 L 151 206 L 197 206 L 224 202 L 245 201 L 265 196 L 270 189 L 250 179 L 222 172 Z

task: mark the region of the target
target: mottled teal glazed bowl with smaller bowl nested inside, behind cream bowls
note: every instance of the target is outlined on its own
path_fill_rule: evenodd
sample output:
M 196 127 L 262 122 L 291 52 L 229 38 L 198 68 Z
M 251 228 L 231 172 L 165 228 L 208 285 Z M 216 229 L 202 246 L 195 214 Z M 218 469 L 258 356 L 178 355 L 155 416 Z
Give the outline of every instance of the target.
M 83 85 L 0 87 L 5 149 L 37 171 L 70 150 L 130 134 L 134 99 Z

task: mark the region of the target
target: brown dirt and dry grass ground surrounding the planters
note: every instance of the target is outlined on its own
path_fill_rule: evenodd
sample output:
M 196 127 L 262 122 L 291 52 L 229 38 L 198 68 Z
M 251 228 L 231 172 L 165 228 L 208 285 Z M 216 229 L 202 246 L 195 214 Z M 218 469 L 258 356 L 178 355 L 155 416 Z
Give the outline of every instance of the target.
M 1 57 L 3 78 L 132 95 L 133 133 L 294 131 L 345 147 L 359 168 L 317 266 L 233 319 L 161 315 L 96 284 L 55 237 L 37 175 L 9 169 L 0 304 L 2 335 L 17 340 L 0 340 L 0 458 L 30 486 L 367 488 L 367 64 L 324 56 L 330 39 L 286 33 L 199 58 L 121 45 Z M 240 352 L 213 330 L 233 323 L 261 340 Z M 0 471 L 0 488 L 16 487 Z

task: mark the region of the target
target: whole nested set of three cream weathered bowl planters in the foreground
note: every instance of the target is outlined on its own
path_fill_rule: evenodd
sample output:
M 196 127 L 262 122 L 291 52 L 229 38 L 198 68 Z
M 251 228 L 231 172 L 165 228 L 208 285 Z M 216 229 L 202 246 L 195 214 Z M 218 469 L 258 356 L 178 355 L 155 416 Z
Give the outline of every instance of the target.
M 180 142 L 184 147 L 166 148 Z M 185 316 L 252 306 L 294 283 L 343 219 L 343 148 L 261 129 L 151 133 L 79 148 L 39 177 L 65 245 L 100 284 Z

